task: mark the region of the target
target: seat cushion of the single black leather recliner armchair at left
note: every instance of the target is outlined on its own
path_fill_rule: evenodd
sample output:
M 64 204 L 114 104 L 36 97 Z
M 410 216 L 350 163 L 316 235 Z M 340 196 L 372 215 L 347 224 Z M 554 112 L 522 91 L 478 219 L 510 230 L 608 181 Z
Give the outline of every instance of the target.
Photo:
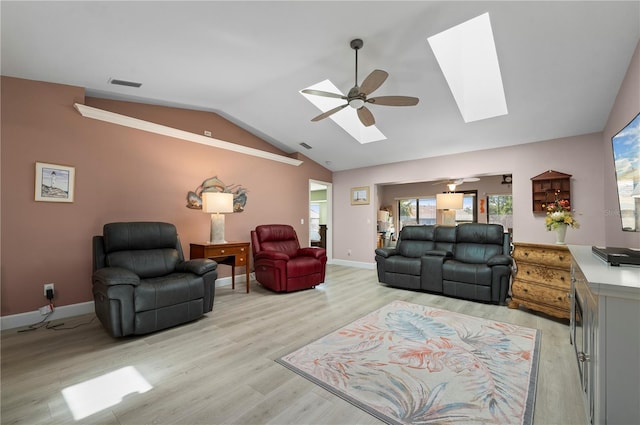
M 136 313 L 204 298 L 202 277 L 190 273 L 173 273 L 143 279 L 135 288 Z

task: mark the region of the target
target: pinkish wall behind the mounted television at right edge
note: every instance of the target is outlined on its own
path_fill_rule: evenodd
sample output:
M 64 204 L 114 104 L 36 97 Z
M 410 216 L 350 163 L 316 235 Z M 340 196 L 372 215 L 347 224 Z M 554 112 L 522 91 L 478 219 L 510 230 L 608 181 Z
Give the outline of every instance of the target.
M 640 43 L 631 58 L 627 75 L 622 82 L 618 96 L 607 126 L 604 128 L 602 144 L 604 146 L 604 181 L 608 190 L 604 192 L 603 210 L 605 218 L 606 244 L 608 246 L 629 246 L 640 248 L 640 233 L 623 232 L 618 208 L 618 192 L 615 182 L 615 168 L 613 166 L 613 152 L 611 138 L 627 125 L 640 112 Z M 640 213 L 640 212 L 638 212 Z

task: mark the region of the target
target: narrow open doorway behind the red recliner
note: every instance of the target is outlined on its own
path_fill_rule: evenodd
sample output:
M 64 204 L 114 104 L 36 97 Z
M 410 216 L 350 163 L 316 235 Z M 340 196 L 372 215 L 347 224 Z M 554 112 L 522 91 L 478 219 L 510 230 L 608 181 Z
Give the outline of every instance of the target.
M 333 207 L 332 184 L 309 180 L 309 244 L 327 250 L 327 259 L 333 258 Z

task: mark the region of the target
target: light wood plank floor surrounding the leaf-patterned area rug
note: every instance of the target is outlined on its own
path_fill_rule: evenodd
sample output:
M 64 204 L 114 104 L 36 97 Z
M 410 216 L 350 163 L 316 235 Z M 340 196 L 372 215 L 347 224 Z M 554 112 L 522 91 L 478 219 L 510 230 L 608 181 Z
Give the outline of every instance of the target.
M 202 319 L 142 337 L 113 339 L 93 315 L 63 321 L 75 329 L 3 331 L 2 424 L 378 424 L 274 360 L 393 300 L 540 329 L 534 424 L 586 423 L 563 321 L 389 288 L 373 270 L 336 265 L 312 290 L 251 286 L 250 294 L 219 287 Z M 75 421 L 61 391 L 125 366 L 153 388 Z

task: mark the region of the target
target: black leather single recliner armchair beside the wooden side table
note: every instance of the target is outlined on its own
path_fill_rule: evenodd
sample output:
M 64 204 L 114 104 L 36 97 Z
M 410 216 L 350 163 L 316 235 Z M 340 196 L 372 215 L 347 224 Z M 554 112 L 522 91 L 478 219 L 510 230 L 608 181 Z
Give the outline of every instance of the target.
M 195 320 L 213 308 L 218 264 L 184 260 L 173 224 L 105 224 L 93 237 L 93 297 L 114 337 Z

